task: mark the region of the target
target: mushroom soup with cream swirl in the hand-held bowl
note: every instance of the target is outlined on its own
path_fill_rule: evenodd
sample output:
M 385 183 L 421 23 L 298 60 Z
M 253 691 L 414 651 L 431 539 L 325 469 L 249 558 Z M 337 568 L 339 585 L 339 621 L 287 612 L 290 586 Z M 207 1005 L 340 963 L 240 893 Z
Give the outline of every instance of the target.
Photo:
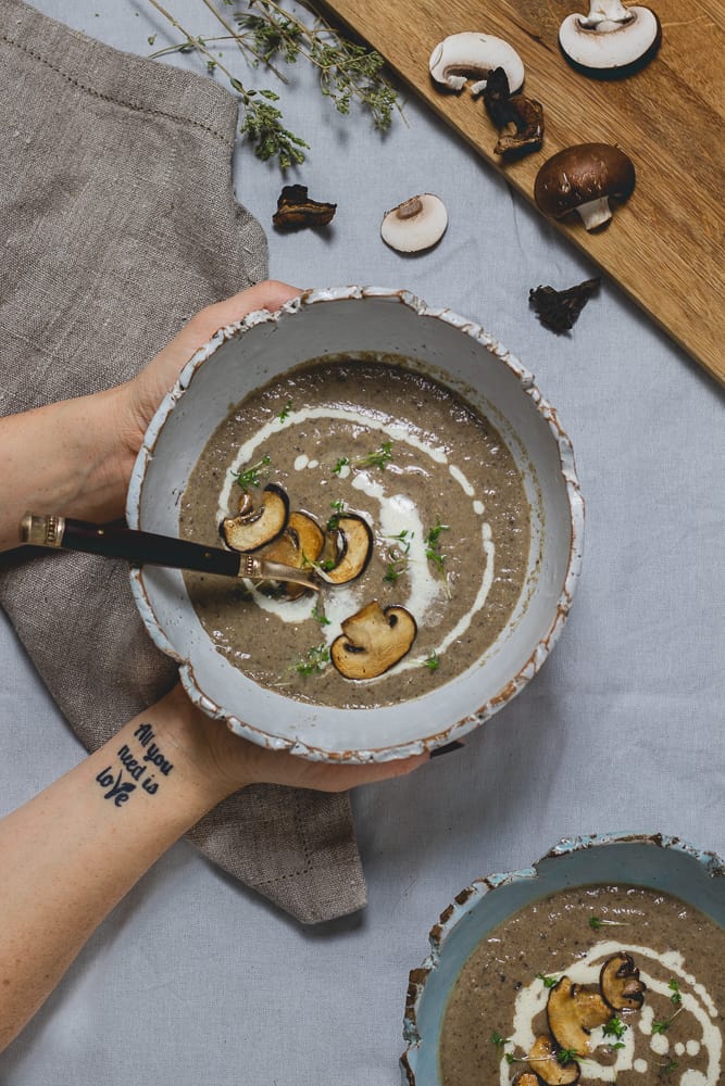
M 180 533 L 317 571 L 320 593 L 186 573 L 220 653 L 288 696 L 415 697 L 476 664 L 526 580 L 522 473 L 490 422 L 402 359 L 317 362 L 230 409 Z

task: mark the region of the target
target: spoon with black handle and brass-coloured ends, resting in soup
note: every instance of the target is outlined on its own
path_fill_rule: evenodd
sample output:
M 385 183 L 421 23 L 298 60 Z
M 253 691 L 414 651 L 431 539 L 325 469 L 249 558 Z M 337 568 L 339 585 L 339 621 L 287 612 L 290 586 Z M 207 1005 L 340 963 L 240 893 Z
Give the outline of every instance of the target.
M 26 513 L 20 533 L 21 541 L 32 546 L 83 551 L 107 558 L 124 558 L 138 565 L 193 569 L 222 577 L 243 577 L 250 581 L 290 581 L 320 592 L 320 585 L 313 580 L 313 569 L 296 569 L 253 554 L 224 551 L 222 547 L 134 531 L 116 525 L 91 525 L 71 517 Z

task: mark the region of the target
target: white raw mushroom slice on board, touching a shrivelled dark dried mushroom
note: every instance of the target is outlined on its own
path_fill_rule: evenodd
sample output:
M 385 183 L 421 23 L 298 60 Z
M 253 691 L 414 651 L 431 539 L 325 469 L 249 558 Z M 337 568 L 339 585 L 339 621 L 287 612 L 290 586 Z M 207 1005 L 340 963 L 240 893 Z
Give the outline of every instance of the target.
M 462 90 L 466 79 L 476 79 L 471 91 L 480 93 L 493 68 L 505 71 L 512 92 L 524 83 L 524 65 L 516 50 L 492 34 L 464 30 L 439 41 L 430 53 L 430 75 L 436 83 L 451 90 Z

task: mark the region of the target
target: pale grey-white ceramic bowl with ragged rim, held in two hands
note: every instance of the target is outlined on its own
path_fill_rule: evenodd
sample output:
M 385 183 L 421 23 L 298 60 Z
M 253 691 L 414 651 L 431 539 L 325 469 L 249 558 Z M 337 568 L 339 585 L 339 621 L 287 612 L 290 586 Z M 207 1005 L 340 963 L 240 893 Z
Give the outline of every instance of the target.
M 572 446 L 534 379 L 479 325 L 432 310 L 405 291 L 309 291 L 279 313 L 254 313 L 202 348 L 146 434 L 128 493 L 132 528 L 178 535 L 180 496 L 229 403 L 307 361 L 345 353 L 396 354 L 487 415 L 522 471 L 532 543 L 521 599 L 485 657 L 416 699 L 374 709 L 305 705 L 262 689 L 204 632 L 177 570 L 132 571 L 155 644 L 178 661 L 191 699 L 240 735 L 313 760 L 384 761 L 464 735 L 536 673 L 568 614 L 584 526 Z

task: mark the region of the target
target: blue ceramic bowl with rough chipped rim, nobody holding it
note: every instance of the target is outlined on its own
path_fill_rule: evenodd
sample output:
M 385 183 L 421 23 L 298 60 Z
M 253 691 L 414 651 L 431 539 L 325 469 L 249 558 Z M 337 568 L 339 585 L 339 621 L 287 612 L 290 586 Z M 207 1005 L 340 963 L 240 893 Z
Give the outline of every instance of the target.
M 532 868 L 478 879 L 443 910 L 428 935 L 430 954 L 410 974 L 403 1082 L 442 1086 L 438 1049 L 448 999 L 465 961 L 493 927 L 559 891 L 617 883 L 662 891 L 725 927 L 723 860 L 659 833 L 566 838 Z

